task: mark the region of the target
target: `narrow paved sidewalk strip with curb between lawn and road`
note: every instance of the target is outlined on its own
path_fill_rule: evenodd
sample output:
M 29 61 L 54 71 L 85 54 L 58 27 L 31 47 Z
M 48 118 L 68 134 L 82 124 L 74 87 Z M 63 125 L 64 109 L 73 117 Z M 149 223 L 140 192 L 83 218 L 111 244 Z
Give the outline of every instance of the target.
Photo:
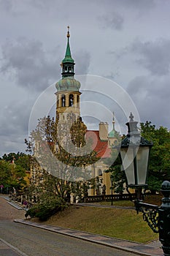
M 72 230 L 65 227 L 55 227 L 53 225 L 43 225 L 37 222 L 31 222 L 25 219 L 14 219 L 14 222 L 18 222 L 23 225 L 31 225 L 32 227 L 38 227 L 45 230 L 49 230 L 55 233 L 60 233 L 65 236 L 72 236 L 85 241 L 90 241 L 95 244 L 101 244 L 109 246 L 115 249 L 121 249 L 125 252 L 133 252 L 136 255 L 145 256 L 163 256 L 163 251 L 158 246 L 150 246 L 149 244 L 140 244 L 131 241 L 126 241 L 117 238 L 111 238 L 109 236 L 100 236 L 93 233 L 87 233 L 79 230 Z

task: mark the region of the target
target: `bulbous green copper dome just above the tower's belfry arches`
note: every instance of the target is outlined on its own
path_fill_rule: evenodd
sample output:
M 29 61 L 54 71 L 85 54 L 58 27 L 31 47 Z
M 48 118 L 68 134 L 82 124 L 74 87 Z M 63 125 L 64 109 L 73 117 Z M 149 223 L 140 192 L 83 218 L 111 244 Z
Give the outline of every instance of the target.
M 74 77 L 67 77 L 59 80 L 55 86 L 58 91 L 79 91 L 81 84 Z

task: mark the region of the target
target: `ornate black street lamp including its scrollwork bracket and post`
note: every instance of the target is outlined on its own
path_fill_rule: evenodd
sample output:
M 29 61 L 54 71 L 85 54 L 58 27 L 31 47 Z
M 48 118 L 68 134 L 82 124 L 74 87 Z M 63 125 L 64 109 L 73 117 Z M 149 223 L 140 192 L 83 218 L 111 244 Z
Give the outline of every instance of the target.
M 137 190 L 134 204 L 137 214 L 142 212 L 143 219 L 155 233 L 159 233 L 159 240 L 163 244 L 163 255 L 170 256 L 170 182 L 163 181 L 161 192 L 163 194 L 162 205 L 155 206 L 142 203 L 139 189 L 147 187 L 147 169 L 152 143 L 140 137 L 137 123 L 131 113 L 127 123 L 128 135 L 122 140 L 120 156 L 123 162 L 127 187 Z

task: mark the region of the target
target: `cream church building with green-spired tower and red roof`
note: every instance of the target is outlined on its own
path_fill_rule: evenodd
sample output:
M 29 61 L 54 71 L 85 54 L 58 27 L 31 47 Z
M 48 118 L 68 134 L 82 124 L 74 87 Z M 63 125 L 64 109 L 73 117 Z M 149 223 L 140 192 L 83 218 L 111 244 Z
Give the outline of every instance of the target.
M 66 126 L 69 122 L 71 124 L 80 118 L 80 82 L 74 78 L 74 59 L 69 45 L 69 26 L 67 32 L 66 55 L 61 61 L 62 78 L 56 83 L 56 118 Z M 95 189 L 88 189 L 88 195 L 102 194 L 103 189 L 106 189 L 106 194 L 110 194 L 111 181 L 109 173 L 105 173 L 108 166 L 104 163 L 104 159 L 109 158 L 111 148 L 117 143 L 118 133 L 115 131 L 115 119 L 113 113 L 112 131 L 109 132 L 109 125 L 105 122 L 98 124 L 98 130 L 88 130 L 85 135 L 85 140 L 92 141 L 92 149 L 96 151 L 99 160 L 91 165 L 93 178 L 98 177 L 98 191 Z M 61 135 L 62 143 L 66 140 L 66 134 Z M 93 170 L 92 170 L 93 169 Z

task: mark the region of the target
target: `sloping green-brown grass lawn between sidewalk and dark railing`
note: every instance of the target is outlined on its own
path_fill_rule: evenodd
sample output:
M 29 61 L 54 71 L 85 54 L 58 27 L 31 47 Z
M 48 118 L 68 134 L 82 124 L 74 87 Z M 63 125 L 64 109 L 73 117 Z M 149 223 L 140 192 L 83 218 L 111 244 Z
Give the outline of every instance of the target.
M 142 214 L 121 208 L 70 206 L 45 223 L 141 243 L 158 239 Z

